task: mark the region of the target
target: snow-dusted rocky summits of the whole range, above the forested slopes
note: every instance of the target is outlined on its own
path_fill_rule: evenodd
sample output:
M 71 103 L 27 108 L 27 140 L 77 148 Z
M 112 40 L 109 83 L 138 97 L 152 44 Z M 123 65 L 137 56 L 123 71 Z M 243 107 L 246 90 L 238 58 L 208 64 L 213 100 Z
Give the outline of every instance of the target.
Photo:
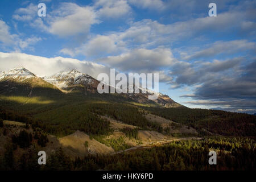
M 100 81 L 96 80 L 95 78 L 85 74 L 81 73 L 75 69 L 72 71 L 65 71 L 65 72 L 59 72 L 52 76 L 46 76 L 46 77 L 37 77 L 30 71 L 28 71 L 26 68 L 20 67 L 20 68 L 14 68 L 10 69 L 9 71 L 0 72 L 0 81 L 9 80 L 9 79 L 15 79 L 16 81 L 24 81 L 28 78 L 36 78 L 32 82 L 33 84 L 46 84 L 48 82 L 50 85 L 55 85 L 58 88 L 61 88 L 63 90 L 67 90 L 68 92 L 72 92 L 73 89 L 80 90 L 87 94 L 87 92 L 90 93 L 97 93 L 97 86 L 100 83 Z M 42 82 L 43 80 L 46 82 Z M 48 85 L 49 86 L 49 85 Z M 82 87 L 81 87 L 82 86 Z M 133 85 L 133 88 L 135 85 Z M 149 103 L 148 100 L 148 94 L 155 94 L 158 95 L 158 99 L 152 100 L 153 102 L 156 102 L 159 105 L 163 105 L 164 107 L 177 107 L 180 106 L 175 101 L 171 100 L 170 97 L 161 94 L 156 93 L 152 90 L 141 88 L 139 87 L 140 92 L 128 94 L 129 97 L 137 101 L 139 103 Z M 146 94 L 142 94 L 142 90 L 146 91 Z M 127 90 L 128 91 L 128 90 Z M 129 92 L 127 92 L 129 93 Z

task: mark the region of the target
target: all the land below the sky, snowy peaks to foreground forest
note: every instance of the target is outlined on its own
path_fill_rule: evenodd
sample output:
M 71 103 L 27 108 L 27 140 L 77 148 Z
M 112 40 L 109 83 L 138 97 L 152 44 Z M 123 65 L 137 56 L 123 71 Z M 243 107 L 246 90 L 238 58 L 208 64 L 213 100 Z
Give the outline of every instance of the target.
M 234 169 L 229 163 L 244 167 L 255 153 L 255 115 L 190 109 L 160 93 L 154 101 L 150 92 L 98 94 L 97 84 L 75 70 L 1 72 L 0 160 L 11 163 L 0 168 L 33 168 L 40 150 L 49 160 L 35 168 L 42 170 Z M 221 156 L 218 168 L 205 164 L 210 148 Z

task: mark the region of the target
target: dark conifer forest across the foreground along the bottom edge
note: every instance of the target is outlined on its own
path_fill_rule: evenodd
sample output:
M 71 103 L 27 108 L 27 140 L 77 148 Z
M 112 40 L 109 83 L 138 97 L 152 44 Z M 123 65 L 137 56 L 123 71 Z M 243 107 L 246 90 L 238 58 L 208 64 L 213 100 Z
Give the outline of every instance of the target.
M 89 155 L 71 160 L 59 148 L 48 157 L 46 166 L 37 164 L 35 146 L 18 160 L 9 144 L 0 156 L 0 170 L 255 170 L 254 138 L 212 137 L 181 140 L 160 147 L 144 148 L 116 155 Z M 209 151 L 217 151 L 217 165 L 210 165 Z

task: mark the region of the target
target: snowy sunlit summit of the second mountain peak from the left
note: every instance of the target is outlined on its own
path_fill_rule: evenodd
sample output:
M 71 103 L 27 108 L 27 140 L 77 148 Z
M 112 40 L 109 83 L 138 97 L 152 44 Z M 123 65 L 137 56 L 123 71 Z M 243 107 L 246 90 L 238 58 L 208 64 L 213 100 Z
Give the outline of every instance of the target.
M 44 77 L 44 80 L 59 87 L 67 88 L 71 85 L 89 85 L 96 81 L 93 77 L 81 73 L 75 69 L 67 72 L 59 72 L 49 77 Z

